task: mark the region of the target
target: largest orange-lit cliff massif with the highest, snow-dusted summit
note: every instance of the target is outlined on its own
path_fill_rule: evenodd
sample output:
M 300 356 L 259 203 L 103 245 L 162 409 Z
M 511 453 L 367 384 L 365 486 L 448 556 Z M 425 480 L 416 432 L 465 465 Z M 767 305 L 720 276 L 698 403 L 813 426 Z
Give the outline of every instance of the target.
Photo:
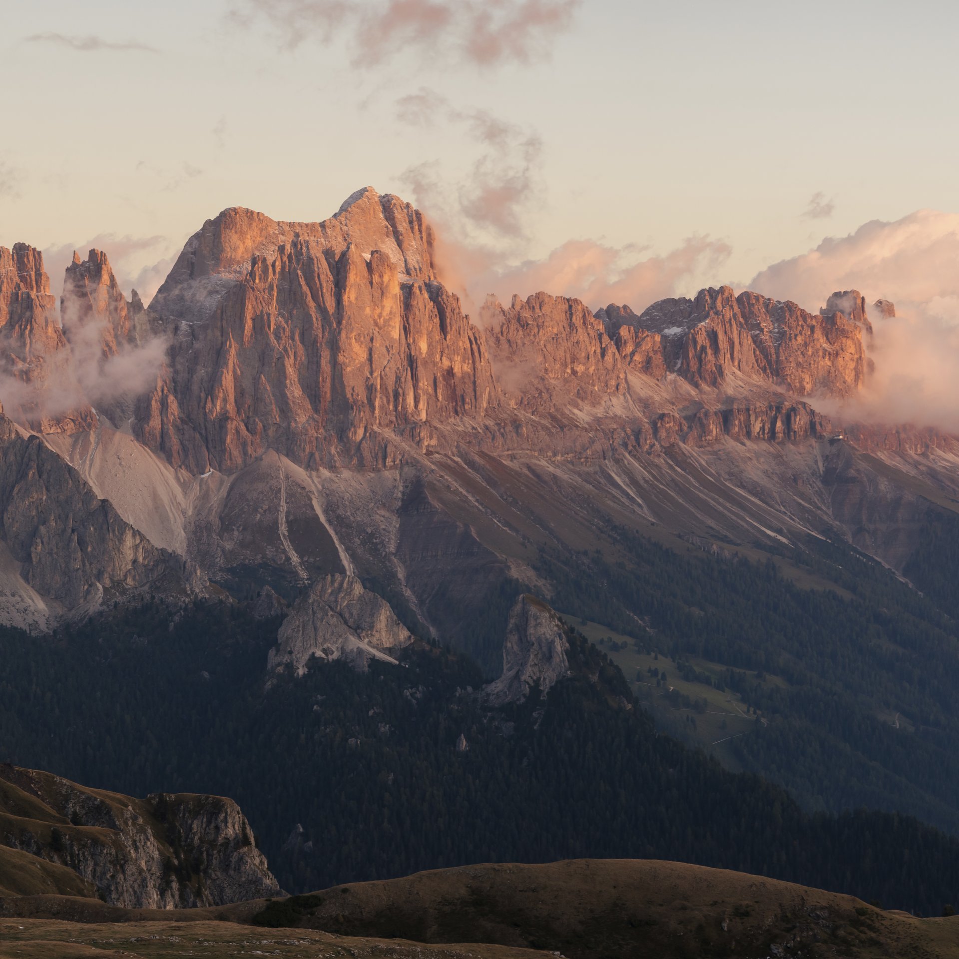
M 137 435 L 194 472 L 267 449 L 386 466 L 390 433 L 428 447 L 429 424 L 481 416 L 495 391 L 479 332 L 434 275 L 432 230 L 372 190 L 321 223 L 224 211 L 151 305 L 174 344 Z

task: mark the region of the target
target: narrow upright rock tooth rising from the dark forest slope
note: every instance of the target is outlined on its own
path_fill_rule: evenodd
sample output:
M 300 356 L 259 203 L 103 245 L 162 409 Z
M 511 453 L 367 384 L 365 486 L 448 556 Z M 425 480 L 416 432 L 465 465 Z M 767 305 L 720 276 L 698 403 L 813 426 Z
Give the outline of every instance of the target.
M 570 671 L 570 644 L 562 620 L 536 596 L 520 596 L 509 612 L 503 643 L 503 675 L 483 687 L 490 706 L 522 703 L 530 691 L 545 696 Z

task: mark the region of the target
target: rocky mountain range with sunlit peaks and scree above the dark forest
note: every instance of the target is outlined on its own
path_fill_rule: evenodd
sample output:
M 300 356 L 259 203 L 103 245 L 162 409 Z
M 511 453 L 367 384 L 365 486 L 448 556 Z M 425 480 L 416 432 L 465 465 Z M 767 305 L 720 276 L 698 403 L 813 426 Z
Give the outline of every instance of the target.
M 456 643 L 437 591 L 466 611 L 512 577 L 549 598 L 538 547 L 836 535 L 902 573 L 930 503 L 954 511 L 953 438 L 816 409 L 863 388 L 868 310 L 891 304 L 834 292 L 808 314 L 724 287 L 637 316 L 538 293 L 473 322 L 435 246 L 370 189 L 321 223 L 229 209 L 147 310 L 103 252 L 75 257 L 62 321 L 39 251 L 0 251 L 4 502 L 35 510 L 5 518 L 4 619 L 45 628 L 168 571 L 289 600 L 351 573 Z M 87 398 L 88 366 L 109 379 L 157 341 L 141 395 Z

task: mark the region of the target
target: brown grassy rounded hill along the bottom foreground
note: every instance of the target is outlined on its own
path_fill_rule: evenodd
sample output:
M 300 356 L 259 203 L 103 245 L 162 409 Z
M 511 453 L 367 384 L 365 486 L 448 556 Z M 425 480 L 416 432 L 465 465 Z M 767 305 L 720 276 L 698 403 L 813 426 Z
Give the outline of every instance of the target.
M 684 863 L 577 859 L 464 866 L 166 912 L 59 897 L 0 900 L 0 943 L 0 955 L 23 957 L 952 959 L 959 917 L 916 919 L 851 896 Z

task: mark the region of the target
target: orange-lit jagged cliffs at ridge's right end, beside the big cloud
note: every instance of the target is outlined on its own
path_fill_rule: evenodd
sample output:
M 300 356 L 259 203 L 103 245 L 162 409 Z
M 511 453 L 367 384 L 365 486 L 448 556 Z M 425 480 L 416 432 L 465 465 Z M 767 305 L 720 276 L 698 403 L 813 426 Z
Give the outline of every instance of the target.
M 800 396 L 847 396 L 869 372 L 864 337 L 872 326 L 856 291 L 834 293 L 818 315 L 758 293 L 737 296 L 731 287 L 661 300 L 641 316 L 615 305 L 601 314 L 634 368 L 639 342 L 639 368 L 656 376 L 665 367 L 693 386 L 722 386 L 736 371 Z M 662 366 L 650 359 L 657 346 Z

